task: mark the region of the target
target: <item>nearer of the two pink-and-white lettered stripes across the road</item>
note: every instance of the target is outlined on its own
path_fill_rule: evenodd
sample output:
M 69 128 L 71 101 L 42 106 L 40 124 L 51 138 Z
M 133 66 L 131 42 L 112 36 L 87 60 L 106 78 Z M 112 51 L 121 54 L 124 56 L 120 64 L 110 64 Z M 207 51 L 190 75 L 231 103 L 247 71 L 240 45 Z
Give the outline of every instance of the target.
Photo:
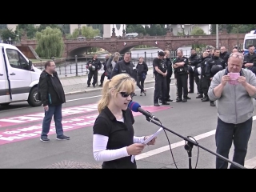
M 150 113 L 167 110 L 170 107 L 167 106 L 144 106 L 144 110 L 148 110 Z M 141 113 L 134 113 L 134 117 L 141 115 Z M 86 126 L 93 126 L 95 119 L 98 114 L 88 114 L 76 118 L 67 118 L 62 121 L 63 130 L 66 132 L 68 130 L 81 129 Z M 36 126 L 26 126 L 22 128 L 7 129 L 0 132 L 0 145 L 4 145 L 11 142 L 20 142 L 30 138 L 39 138 L 41 135 L 42 124 Z M 55 134 L 54 122 L 50 125 L 49 134 Z

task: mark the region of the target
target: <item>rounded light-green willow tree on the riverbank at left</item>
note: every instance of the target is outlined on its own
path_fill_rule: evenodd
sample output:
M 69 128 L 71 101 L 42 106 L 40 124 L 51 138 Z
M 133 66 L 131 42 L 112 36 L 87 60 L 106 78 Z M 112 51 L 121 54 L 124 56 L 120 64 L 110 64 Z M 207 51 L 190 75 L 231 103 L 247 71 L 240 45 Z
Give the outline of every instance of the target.
M 45 30 L 36 33 L 38 46 L 35 51 L 39 57 L 52 58 L 62 57 L 64 50 L 64 42 L 62 38 L 62 31 L 57 28 L 50 28 L 47 26 Z

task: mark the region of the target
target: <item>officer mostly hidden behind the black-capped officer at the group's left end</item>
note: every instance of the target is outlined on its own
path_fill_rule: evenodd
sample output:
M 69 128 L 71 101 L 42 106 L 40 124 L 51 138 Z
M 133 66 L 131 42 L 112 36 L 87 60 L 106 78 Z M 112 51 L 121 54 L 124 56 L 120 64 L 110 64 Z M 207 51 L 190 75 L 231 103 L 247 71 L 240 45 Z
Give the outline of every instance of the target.
M 165 57 L 163 58 L 163 61 L 166 62 L 167 66 L 167 74 L 166 74 L 166 102 L 173 102 L 172 99 L 170 99 L 170 82 L 171 82 L 171 76 L 173 74 L 173 64 L 170 61 L 170 51 L 165 50 Z M 163 88 L 162 88 L 163 89 Z M 162 95 L 159 98 L 159 102 L 162 102 Z

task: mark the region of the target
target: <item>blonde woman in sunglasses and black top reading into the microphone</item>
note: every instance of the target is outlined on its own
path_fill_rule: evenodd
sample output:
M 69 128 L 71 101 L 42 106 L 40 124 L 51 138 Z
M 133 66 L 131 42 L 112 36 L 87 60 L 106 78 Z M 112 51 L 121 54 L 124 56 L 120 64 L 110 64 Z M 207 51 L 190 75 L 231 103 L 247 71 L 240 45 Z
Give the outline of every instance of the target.
M 104 82 L 102 98 L 98 102 L 98 117 L 93 127 L 94 159 L 102 169 L 136 169 L 136 158 L 146 146 L 142 142 L 150 136 L 134 136 L 134 116 L 128 108 L 135 90 L 134 78 L 118 74 Z M 153 138 L 147 145 L 154 145 Z

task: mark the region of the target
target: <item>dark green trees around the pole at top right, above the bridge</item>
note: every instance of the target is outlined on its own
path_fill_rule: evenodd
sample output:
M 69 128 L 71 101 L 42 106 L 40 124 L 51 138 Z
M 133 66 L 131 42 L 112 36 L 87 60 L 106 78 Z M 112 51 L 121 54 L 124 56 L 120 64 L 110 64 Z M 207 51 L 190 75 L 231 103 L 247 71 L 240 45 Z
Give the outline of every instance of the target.
M 228 34 L 247 34 L 256 29 L 256 24 L 218 24 L 218 31 L 226 30 Z M 216 24 L 211 24 L 211 34 L 216 34 Z

